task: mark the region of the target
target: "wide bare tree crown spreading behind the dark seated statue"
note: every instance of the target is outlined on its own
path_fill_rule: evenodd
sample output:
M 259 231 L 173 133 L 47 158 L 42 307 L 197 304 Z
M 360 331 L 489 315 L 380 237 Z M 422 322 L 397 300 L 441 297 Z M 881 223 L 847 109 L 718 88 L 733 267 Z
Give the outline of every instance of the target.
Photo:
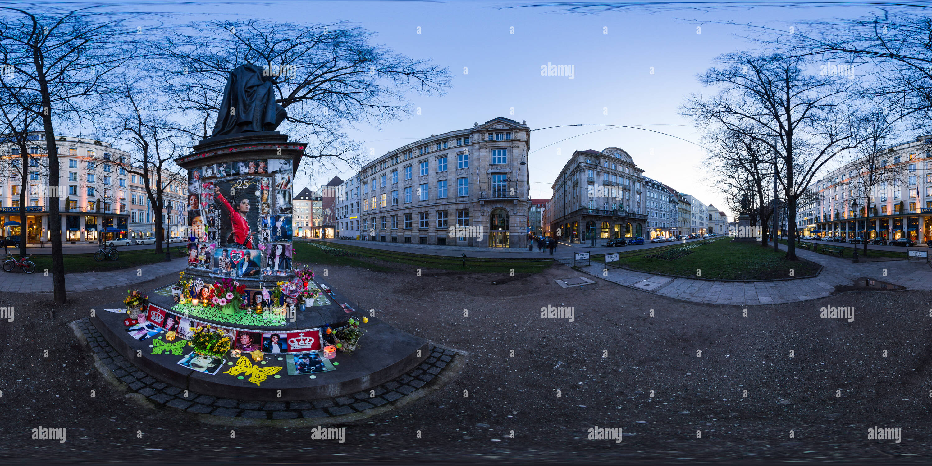
M 413 60 L 371 42 L 372 34 L 344 22 L 202 21 L 176 29 L 155 44 L 154 69 L 174 109 L 185 113 L 193 136 L 211 135 L 226 79 L 235 68 L 263 66 L 288 111 L 282 123 L 307 140 L 307 158 L 359 165 L 360 144 L 344 129 L 376 126 L 414 112 L 407 91 L 442 94 L 450 75 L 427 60 Z M 299 164 L 295 164 L 295 170 Z

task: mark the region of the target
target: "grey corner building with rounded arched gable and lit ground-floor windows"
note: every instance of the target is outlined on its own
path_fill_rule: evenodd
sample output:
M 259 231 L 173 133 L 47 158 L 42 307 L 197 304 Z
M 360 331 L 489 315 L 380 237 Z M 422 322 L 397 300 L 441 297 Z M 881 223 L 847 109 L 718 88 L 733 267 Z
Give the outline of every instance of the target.
M 643 170 L 618 147 L 576 151 L 553 185 L 550 231 L 561 240 L 595 241 L 646 234 Z

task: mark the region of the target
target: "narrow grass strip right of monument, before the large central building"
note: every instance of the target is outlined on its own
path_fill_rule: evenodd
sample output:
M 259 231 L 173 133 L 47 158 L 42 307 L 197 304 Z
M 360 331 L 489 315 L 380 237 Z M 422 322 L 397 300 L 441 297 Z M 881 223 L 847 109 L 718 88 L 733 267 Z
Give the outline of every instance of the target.
M 391 266 L 386 267 L 384 264 L 369 262 L 366 260 L 367 258 L 378 259 L 379 261 L 389 263 L 407 264 L 411 266 L 483 273 L 509 273 L 513 268 L 514 273 L 538 273 L 553 264 L 553 260 L 550 259 L 528 260 L 467 257 L 466 268 L 463 268 L 462 258 L 455 256 L 446 257 L 429 254 L 413 254 L 408 252 L 382 251 L 361 246 L 335 244 L 330 242 L 324 243 L 319 241 L 295 241 L 295 260 L 301 263 L 365 267 L 377 271 L 391 270 Z

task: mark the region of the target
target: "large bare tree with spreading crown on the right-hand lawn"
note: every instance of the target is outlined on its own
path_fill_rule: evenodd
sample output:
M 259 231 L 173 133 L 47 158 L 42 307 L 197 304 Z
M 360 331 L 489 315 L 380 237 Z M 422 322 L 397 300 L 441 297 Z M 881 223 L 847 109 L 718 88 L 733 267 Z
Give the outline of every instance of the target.
M 801 57 L 735 52 L 718 61 L 724 67 L 710 68 L 699 79 L 718 87 L 719 94 L 691 96 L 683 113 L 702 126 L 740 132 L 774 151 L 788 205 L 787 258 L 797 260 L 797 200 L 829 160 L 857 145 L 842 113 L 850 94 L 839 79 L 809 75 Z

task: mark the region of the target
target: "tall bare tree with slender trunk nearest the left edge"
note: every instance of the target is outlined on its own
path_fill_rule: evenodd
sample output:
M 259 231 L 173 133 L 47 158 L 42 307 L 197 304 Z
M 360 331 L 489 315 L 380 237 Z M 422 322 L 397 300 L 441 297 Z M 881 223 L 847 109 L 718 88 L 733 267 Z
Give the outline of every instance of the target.
M 103 98 L 114 90 L 114 75 L 136 56 L 136 42 L 131 37 L 136 28 L 126 24 L 129 18 L 114 18 L 89 8 L 37 7 L 28 11 L 0 7 L 0 62 L 12 69 L 9 75 L 0 73 L 0 88 L 21 89 L 38 97 L 38 102 L 16 103 L 37 112 L 42 120 L 49 185 L 58 185 L 61 179 L 55 126 L 68 118 L 83 120 L 98 115 Z M 59 193 L 50 191 L 53 296 L 61 305 L 65 302 L 62 218 Z

